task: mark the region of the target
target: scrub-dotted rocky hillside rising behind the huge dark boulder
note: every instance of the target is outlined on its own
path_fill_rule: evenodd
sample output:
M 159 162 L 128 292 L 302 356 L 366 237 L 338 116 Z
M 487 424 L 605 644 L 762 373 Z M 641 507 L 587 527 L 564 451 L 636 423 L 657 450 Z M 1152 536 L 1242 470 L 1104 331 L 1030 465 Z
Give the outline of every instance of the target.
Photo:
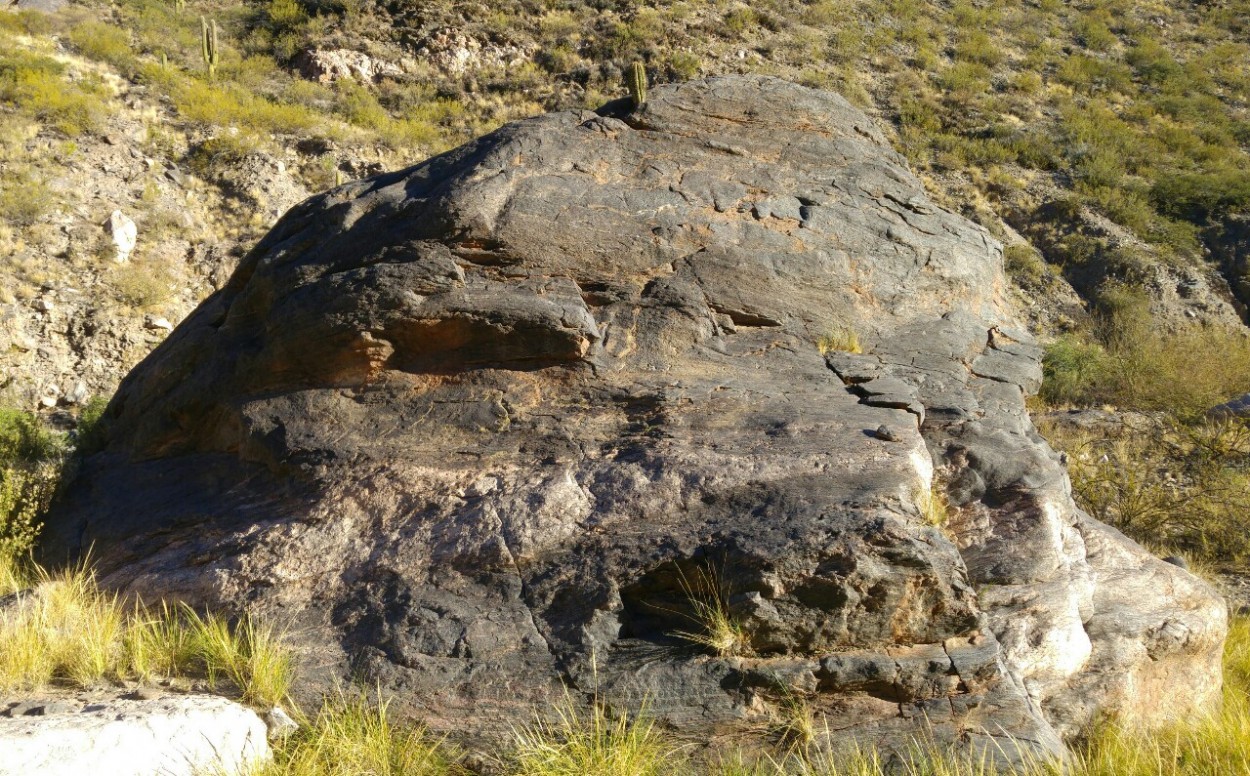
M 1008 245 L 1038 331 L 1106 344 L 1100 316 L 1125 309 L 1162 332 L 1239 326 L 1248 17 L 1246 0 L 19 0 L 0 11 L 0 381 L 22 407 L 108 396 L 308 194 L 598 106 L 634 60 L 654 82 L 848 95 Z M 125 262 L 114 211 L 138 225 Z

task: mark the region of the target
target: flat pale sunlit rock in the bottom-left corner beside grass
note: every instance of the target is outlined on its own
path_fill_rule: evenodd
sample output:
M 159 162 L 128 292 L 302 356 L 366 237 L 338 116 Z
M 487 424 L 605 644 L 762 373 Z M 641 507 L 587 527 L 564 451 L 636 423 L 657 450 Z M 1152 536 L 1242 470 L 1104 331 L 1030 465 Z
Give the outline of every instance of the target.
M 260 717 L 216 696 L 0 707 L 0 776 L 229 776 L 269 756 Z

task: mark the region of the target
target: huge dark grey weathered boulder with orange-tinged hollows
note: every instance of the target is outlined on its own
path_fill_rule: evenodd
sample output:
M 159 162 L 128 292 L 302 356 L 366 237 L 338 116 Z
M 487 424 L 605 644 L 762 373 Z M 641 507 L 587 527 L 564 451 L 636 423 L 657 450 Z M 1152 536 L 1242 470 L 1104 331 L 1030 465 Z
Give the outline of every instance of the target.
M 904 746 L 1186 714 L 1222 602 L 1074 507 L 1002 286 L 835 95 L 521 121 L 288 214 L 126 379 L 51 551 L 470 736 L 566 686 L 732 745 L 795 696 Z

